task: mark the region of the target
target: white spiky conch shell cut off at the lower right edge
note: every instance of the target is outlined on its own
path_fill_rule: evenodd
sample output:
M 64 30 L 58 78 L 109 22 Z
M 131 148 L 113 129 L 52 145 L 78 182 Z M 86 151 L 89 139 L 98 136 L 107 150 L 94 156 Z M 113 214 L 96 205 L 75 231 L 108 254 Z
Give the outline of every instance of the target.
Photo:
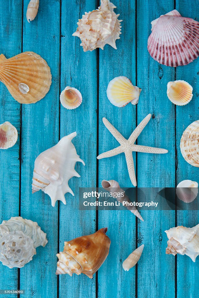
M 165 232 L 169 239 L 166 254 L 186 254 L 195 262 L 199 254 L 199 224 L 193 228 L 177 226 Z

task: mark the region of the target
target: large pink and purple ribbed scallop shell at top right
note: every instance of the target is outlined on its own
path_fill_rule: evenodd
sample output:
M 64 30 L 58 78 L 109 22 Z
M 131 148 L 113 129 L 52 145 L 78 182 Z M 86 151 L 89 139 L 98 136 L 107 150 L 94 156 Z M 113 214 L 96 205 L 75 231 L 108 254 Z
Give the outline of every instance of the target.
M 186 65 L 199 55 L 199 22 L 172 10 L 151 22 L 148 51 L 167 66 Z

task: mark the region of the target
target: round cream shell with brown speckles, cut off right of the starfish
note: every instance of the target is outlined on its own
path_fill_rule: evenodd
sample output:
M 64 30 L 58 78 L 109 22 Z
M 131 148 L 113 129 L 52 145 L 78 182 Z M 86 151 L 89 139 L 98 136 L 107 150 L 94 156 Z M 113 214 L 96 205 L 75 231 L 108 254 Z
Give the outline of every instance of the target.
M 186 162 L 199 167 L 199 120 L 192 122 L 183 132 L 180 150 Z

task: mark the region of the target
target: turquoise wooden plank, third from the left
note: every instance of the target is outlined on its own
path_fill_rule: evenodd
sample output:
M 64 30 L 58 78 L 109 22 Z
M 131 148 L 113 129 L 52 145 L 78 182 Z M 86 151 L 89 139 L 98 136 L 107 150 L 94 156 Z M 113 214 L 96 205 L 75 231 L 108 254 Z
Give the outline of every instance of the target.
M 75 87 L 81 91 L 83 100 L 75 110 L 67 110 L 61 105 L 60 137 L 77 132 L 72 142 L 86 165 L 84 167 L 77 162 L 75 169 L 81 177 L 73 177 L 69 181 L 75 195 L 65 195 L 66 205 L 60 202 L 59 251 L 63 251 L 64 241 L 94 233 L 96 229 L 95 211 L 79 210 L 79 187 L 96 186 L 97 56 L 96 51 L 85 53 L 80 46 L 80 39 L 72 36 L 78 19 L 85 11 L 95 7 L 96 1 L 93 0 L 62 1 L 61 91 L 66 86 Z M 95 274 L 92 280 L 84 274 L 73 274 L 72 277 L 60 275 L 59 297 L 95 297 Z

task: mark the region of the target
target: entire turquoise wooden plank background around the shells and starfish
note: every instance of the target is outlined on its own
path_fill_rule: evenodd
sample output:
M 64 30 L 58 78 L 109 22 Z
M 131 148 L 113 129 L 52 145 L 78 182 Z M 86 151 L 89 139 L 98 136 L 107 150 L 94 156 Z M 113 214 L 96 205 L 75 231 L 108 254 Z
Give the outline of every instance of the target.
M 199 298 L 199 259 L 193 263 L 187 256 L 166 255 L 164 233 L 176 225 L 198 224 L 198 211 L 142 211 L 143 223 L 125 210 L 78 209 L 79 187 L 101 186 L 102 179 L 132 187 L 124 154 L 99 162 L 96 159 L 98 153 L 118 145 L 105 128 L 103 117 L 129 137 L 136 125 L 152 114 L 138 144 L 166 148 L 169 153 L 133 154 L 138 187 L 175 187 L 184 179 L 198 181 L 198 169 L 185 162 L 179 148 L 185 128 L 199 119 L 198 59 L 175 69 L 158 64 L 147 51 L 152 20 L 176 8 L 198 21 L 198 1 L 114 0 L 115 12 L 123 19 L 117 50 L 106 45 L 104 51 L 86 53 L 72 33 L 82 14 L 96 9 L 98 1 L 40 0 L 38 15 L 30 24 L 26 20 L 28 2 L 7 0 L 1 5 L 0 51 L 7 58 L 24 51 L 41 55 L 50 66 L 52 86 L 38 103 L 20 105 L 0 84 L 0 122 L 10 121 L 18 130 L 16 145 L 0 150 L 0 217 L 2 221 L 21 215 L 37 221 L 49 242 L 45 248 L 37 248 L 33 260 L 20 270 L 0 264 L 0 289 L 25 289 L 24 298 Z M 107 85 L 119 75 L 142 88 L 138 105 L 117 108 L 107 99 Z M 186 106 L 174 106 L 166 96 L 168 81 L 175 79 L 193 86 L 193 99 Z M 83 102 L 76 110 L 60 106 L 59 94 L 66 86 L 82 93 Z M 31 193 L 34 161 L 73 131 L 77 131 L 73 143 L 86 166 L 77 163 L 81 178 L 69 181 L 75 196 L 67 194 L 67 205 L 57 202 L 52 207 L 48 195 Z M 63 250 L 64 241 L 105 226 L 111 239 L 110 252 L 93 279 L 84 274 L 56 276 L 55 254 Z M 122 262 L 141 244 L 145 247 L 138 265 L 124 271 Z

